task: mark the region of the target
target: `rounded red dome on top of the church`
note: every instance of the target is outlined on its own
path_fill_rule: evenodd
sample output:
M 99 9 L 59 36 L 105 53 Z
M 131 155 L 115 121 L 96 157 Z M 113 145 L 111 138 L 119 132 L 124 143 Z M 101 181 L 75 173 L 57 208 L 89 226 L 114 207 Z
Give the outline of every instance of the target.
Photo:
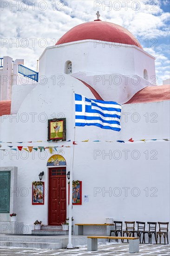
M 138 40 L 127 29 L 100 20 L 73 27 L 58 40 L 56 45 L 87 39 L 135 45 L 143 49 Z

